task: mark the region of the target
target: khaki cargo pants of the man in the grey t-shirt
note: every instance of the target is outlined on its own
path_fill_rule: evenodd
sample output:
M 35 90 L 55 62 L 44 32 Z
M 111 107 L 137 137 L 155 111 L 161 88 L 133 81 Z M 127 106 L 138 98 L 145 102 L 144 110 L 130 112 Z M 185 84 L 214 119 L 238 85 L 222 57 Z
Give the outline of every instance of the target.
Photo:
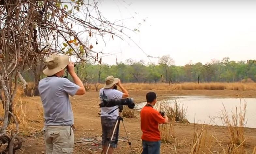
M 74 132 L 71 126 L 45 126 L 46 154 L 73 153 Z

